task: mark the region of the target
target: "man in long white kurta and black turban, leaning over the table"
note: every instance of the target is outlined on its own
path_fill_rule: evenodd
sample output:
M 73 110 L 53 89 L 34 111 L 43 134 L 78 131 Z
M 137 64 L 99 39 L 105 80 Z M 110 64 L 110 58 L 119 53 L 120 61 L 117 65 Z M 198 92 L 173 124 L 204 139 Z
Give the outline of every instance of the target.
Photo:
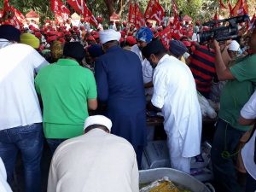
M 201 109 L 195 80 L 187 65 L 166 54 L 160 40 L 143 48 L 143 55 L 155 67 L 151 102 L 164 114 L 172 168 L 190 173 L 190 158 L 201 152 Z

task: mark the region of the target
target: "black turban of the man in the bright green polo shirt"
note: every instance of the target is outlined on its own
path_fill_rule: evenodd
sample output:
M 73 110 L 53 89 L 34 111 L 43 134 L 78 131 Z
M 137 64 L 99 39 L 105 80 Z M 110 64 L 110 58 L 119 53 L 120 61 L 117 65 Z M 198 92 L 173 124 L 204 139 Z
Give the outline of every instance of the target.
M 84 47 L 79 42 L 68 42 L 64 45 L 63 55 L 82 61 L 84 59 Z

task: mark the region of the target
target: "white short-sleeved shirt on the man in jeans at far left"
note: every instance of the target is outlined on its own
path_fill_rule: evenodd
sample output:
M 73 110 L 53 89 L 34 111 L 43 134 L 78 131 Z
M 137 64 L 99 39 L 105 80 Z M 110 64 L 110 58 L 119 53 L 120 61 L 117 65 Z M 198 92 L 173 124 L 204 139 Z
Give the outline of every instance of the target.
M 25 44 L 0 49 L 0 58 L 0 130 L 42 122 L 34 71 L 48 62 Z

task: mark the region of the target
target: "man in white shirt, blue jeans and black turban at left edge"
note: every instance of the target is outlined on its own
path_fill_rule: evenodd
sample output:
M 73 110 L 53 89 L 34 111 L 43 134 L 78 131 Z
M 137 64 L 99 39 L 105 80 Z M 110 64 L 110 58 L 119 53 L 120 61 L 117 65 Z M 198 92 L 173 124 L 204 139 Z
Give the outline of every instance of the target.
M 20 150 L 25 190 L 40 191 L 44 136 L 34 72 L 48 62 L 31 46 L 17 42 L 20 42 L 18 29 L 0 26 L 0 156 L 10 181 Z

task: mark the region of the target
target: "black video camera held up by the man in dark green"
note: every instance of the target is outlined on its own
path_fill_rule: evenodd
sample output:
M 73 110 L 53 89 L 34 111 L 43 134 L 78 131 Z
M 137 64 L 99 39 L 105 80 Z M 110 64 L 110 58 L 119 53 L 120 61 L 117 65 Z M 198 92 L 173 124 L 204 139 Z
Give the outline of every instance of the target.
M 211 29 L 206 32 L 197 32 L 197 40 L 199 43 L 204 43 L 210 39 L 216 39 L 217 41 L 225 41 L 230 38 L 237 38 L 237 24 L 245 22 L 247 20 L 250 20 L 248 15 L 239 15 L 224 20 L 210 20 L 204 23 L 202 26 L 210 26 Z M 224 23 L 224 25 L 218 26 L 218 23 Z M 229 25 L 227 26 L 226 23 L 228 23 Z

